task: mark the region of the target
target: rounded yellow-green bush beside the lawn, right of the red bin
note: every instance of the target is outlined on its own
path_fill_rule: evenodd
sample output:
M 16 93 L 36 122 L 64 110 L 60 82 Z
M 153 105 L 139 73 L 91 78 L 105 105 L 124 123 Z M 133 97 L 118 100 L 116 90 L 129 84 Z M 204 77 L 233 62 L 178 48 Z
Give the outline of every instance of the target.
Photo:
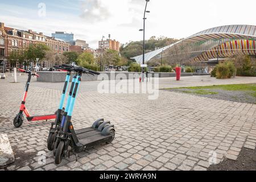
M 226 79 L 231 78 L 234 75 L 236 68 L 231 61 L 220 63 L 216 65 L 216 78 Z

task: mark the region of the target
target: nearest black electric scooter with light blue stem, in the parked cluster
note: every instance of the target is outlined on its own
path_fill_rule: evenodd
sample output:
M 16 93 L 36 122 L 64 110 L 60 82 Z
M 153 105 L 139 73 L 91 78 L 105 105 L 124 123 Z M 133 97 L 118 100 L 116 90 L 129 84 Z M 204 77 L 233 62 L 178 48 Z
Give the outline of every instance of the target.
M 81 83 L 82 73 L 90 75 L 100 75 L 100 73 L 82 67 L 72 67 L 72 69 L 77 73 L 77 77 L 75 88 L 73 88 L 73 90 L 71 88 L 71 101 L 69 106 L 67 105 L 68 108 L 66 107 L 65 110 L 67 111 L 67 117 L 63 117 L 64 120 L 61 122 L 61 127 L 54 143 L 56 148 L 55 164 L 60 164 L 63 157 L 69 156 L 70 152 L 75 154 L 77 157 L 77 153 L 100 143 L 111 143 L 115 137 L 114 125 L 111 125 L 109 121 L 104 122 L 104 119 L 98 119 L 93 123 L 92 127 L 80 130 L 74 129 L 71 118 L 75 106 L 77 92 Z M 69 146 L 71 147 L 71 150 L 69 150 Z

